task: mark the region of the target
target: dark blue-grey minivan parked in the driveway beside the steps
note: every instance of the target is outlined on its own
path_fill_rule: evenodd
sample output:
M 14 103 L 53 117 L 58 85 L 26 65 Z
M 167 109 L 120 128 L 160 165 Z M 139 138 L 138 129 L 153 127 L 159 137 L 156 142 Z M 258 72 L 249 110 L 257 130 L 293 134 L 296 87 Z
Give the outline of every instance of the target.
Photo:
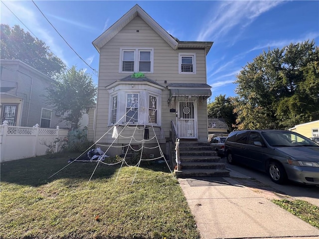
M 240 130 L 225 141 L 228 163 L 239 162 L 267 172 L 282 184 L 287 179 L 319 185 L 319 145 L 287 130 Z

